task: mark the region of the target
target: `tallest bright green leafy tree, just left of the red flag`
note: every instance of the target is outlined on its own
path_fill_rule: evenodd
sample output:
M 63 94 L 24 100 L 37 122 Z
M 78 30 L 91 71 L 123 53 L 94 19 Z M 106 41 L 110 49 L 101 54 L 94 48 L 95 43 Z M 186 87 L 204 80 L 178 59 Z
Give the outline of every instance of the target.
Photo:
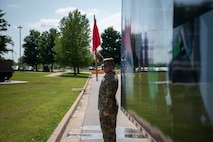
M 88 64 L 92 55 L 89 52 L 89 20 L 80 11 L 74 10 L 59 23 L 61 36 L 55 41 L 56 61 L 64 66 L 76 69 Z M 78 70 L 79 72 L 79 70 Z

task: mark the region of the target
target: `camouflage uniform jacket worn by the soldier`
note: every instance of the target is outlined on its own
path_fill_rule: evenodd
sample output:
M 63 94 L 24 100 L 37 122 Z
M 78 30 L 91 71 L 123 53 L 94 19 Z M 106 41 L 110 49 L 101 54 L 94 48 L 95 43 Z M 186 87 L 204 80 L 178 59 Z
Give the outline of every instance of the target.
M 118 109 L 116 92 L 118 89 L 118 76 L 115 72 L 105 74 L 99 88 L 98 109 L 114 113 Z

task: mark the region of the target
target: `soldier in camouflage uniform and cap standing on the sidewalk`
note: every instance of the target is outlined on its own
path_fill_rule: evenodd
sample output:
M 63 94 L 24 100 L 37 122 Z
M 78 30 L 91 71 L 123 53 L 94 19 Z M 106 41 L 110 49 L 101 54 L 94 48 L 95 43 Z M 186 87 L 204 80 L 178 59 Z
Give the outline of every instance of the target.
M 116 142 L 116 119 L 118 104 L 116 92 L 118 89 L 118 77 L 115 74 L 113 58 L 105 58 L 96 52 L 99 61 L 103 62 L 103 70 L 106 73 L 101 80 L 99 88 L 98 109 L 104 142 Z

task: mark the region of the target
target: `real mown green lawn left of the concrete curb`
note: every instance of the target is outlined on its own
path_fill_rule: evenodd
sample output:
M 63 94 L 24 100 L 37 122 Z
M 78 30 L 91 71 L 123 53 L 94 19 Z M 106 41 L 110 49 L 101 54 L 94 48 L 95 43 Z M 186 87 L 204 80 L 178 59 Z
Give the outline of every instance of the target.
M 48 77 L 43 72 L 15 72 L 11 80 L 27 84 L 0 85 L 0 141 L 46 142 L 84 87 L 88 74 Z

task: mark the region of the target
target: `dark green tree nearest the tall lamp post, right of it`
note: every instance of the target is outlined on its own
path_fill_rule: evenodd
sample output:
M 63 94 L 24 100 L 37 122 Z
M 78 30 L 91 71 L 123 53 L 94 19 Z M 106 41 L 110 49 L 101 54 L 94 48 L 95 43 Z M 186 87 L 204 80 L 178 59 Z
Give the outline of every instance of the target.
M 30 35 L 24 38 L 24 57 L 23 62 L 31 66 L 36 66 L 36 71 L 38 71 L 38 64 L 40 63 L 39 55 L 39 39 L 40 32 L 35 30 L 30 30 Z

